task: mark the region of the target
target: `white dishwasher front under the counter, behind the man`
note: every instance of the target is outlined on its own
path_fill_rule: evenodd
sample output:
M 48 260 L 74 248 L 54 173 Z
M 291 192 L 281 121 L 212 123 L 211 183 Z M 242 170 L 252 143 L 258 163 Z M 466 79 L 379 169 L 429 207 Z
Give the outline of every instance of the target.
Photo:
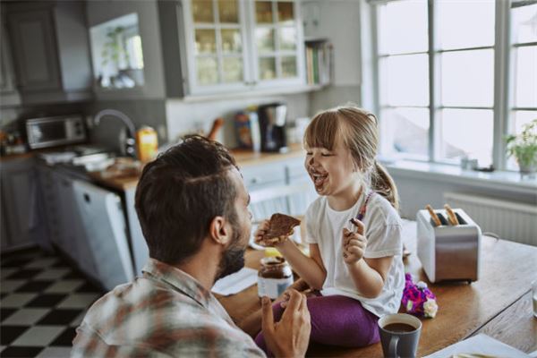
M 111 290 L 134 274 L 120 197 L 80 180 L 72 184 L 101 285 Z

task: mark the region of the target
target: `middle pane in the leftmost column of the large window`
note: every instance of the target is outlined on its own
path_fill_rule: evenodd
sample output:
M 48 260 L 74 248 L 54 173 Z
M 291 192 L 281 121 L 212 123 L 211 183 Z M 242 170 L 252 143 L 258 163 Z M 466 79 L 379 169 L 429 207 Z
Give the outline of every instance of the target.
M 427 55 L 389 56 L 381 65 L 380 75 L 389 106 L 429 105 L 429 63 Z

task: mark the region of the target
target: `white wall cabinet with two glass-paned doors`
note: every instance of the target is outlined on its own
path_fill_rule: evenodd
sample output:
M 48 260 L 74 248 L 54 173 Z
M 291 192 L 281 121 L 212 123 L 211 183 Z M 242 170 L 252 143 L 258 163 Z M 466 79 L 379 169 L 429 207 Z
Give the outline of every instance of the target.
M 297 1 L 158 4 L 168 96 L 304 87 Z

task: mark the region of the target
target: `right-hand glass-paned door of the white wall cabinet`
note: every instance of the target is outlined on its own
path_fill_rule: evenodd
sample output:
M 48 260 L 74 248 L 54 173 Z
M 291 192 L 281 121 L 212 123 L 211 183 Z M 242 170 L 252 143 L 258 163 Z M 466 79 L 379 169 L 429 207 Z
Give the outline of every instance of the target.
M 299 79 L 302 36 L 295 2 L 256 0 L 253 12 L 255 77 L 260 82 Z

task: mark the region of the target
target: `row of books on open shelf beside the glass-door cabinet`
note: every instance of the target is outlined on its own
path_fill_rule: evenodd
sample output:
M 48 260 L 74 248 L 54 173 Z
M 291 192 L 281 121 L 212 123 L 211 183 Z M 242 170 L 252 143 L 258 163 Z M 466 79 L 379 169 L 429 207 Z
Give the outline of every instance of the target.
M 309 85 L 330 83 L 332 55 L 332 44 L 328 40 L 306 42 L 306 80 Z

